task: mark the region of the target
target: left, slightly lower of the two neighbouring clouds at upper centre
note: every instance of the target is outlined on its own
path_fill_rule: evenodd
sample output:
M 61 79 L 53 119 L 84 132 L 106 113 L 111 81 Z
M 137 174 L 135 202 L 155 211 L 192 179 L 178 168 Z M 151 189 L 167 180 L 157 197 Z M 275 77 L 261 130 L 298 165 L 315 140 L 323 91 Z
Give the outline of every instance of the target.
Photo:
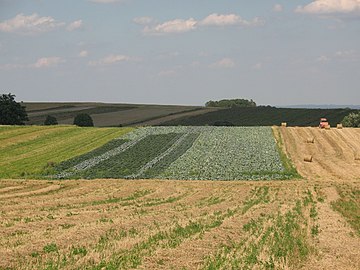
M 182 20 L 176 19 L 158 24 L 154 27 L 146 26 L 144 33 L 146 34 L 170 34 L 170 33 L 184 33 L 196 28 L 197 21 L 194 19 Z

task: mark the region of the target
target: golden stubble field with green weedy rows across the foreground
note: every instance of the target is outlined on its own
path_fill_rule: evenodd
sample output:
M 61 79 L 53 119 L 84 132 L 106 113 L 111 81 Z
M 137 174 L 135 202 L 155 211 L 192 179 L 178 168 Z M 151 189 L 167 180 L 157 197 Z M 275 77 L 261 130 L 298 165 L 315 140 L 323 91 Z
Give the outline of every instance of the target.
M 360 241 L 334 192 L 307 181 L 2 180 L 0 269 L 358 269 Z

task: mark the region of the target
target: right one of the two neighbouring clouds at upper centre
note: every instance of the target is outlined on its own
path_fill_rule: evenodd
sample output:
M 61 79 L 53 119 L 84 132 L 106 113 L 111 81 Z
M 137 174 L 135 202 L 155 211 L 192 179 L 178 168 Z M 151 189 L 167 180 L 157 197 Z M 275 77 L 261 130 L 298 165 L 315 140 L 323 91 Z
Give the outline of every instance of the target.
M 259 18 L 246 21 L 236 14 L 217 14 L 213 13 L 203 19 L 199 24 L 204 26 L 231 26 L 231 25 L 259 25 L 263 22 Z

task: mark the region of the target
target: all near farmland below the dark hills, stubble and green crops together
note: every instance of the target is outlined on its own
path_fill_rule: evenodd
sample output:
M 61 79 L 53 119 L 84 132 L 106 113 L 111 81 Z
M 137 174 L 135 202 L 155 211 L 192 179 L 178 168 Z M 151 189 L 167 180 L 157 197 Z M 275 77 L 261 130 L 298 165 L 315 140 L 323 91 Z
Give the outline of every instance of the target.
M 0 142 L 0 269 L 360 268 L 360 129 L 3 126 Z

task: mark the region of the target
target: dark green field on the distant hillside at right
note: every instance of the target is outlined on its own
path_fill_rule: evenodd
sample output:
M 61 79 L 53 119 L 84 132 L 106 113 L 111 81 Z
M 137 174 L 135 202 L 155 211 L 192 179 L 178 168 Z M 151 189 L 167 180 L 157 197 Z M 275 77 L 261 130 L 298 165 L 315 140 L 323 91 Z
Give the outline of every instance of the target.
M 231 108 L 178 118 L 161 125 L 203 126 L 228 122 L 235 126 L 272 126 L 287 122 L 289 126 L 318 126 L 320 118 L 326 117 L 331 126 L 336 126 L 345 116 L 355 111 L 357 112 L 351 109 L 289 109 L 270 106 Z

